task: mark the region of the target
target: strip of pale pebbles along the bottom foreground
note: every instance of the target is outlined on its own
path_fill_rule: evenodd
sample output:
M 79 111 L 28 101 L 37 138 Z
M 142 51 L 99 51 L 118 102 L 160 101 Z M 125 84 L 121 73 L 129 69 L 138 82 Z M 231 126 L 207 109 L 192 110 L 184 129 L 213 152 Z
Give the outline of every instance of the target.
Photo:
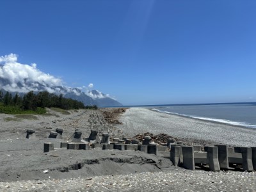
M 243 179 L 242 177 L 243 176 Z M 214 182 L 212 182 L 214 179 Z M 236 182 L 234 182 L 236 181 Z M 162 172 L 0 182 L 0 191 L 255 191 L 256 172 Z

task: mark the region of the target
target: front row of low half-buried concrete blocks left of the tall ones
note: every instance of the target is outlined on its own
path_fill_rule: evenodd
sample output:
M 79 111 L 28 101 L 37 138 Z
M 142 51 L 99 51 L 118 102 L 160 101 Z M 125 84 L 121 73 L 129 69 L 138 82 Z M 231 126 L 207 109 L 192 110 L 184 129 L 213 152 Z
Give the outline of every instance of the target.
M 68 143 L 61 142 L 61 148 L 74 149 L 74 150 L 89 150 L 90 145 L 88 143 Z M 92 143 L 92 148 L 99 148 L 102 150 L 140 150 L 148 154 L 158 155 L 159 151 L 166 151 L 166 146 L 161 145 L 138 145 L 138 144 L 123 144 L 123 143 L 111 143 L 111 144 L 100 144 Z M 44 152 L 49 152 L 54 149 L 53 143 L 44 143 Z

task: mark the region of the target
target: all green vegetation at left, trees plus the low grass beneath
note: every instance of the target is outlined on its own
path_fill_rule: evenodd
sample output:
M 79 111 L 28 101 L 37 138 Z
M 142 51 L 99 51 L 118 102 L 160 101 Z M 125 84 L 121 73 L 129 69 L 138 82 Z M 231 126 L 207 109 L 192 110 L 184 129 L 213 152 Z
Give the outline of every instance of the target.
M 28 92 L 24 97 L 20 97 L 18 93 L 12 97 L 12 93 L 6 92 L 4 95 L 0 91 L 0 113 L 7 114 L 45 114 L 45 108 L 52 108 L 62 114 L 70 114 L 69 109 L 97 109 L 97 106 L 84 106 L 83 102 L 73 99 L 64 98 L 63 95 L 55 95 L 48 92 L 39 92 L 35 94 L 33 91 Z M 58 109 L 59 108 L 59 109 Z

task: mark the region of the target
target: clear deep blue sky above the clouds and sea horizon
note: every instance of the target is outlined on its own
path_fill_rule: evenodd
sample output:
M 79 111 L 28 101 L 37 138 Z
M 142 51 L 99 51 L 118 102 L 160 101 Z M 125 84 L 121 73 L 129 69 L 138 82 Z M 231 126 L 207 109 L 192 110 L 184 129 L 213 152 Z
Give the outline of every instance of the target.
M 1 0 L 0 56 L 125 105 L 256 101 L 256 1 Z

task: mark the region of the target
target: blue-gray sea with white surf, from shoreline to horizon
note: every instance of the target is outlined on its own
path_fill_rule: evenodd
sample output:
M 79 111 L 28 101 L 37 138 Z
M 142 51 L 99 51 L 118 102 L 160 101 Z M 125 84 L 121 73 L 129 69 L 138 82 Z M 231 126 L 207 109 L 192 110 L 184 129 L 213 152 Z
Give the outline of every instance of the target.
M 256 102 L 150 106 L 162 113 L 256 128 Z

